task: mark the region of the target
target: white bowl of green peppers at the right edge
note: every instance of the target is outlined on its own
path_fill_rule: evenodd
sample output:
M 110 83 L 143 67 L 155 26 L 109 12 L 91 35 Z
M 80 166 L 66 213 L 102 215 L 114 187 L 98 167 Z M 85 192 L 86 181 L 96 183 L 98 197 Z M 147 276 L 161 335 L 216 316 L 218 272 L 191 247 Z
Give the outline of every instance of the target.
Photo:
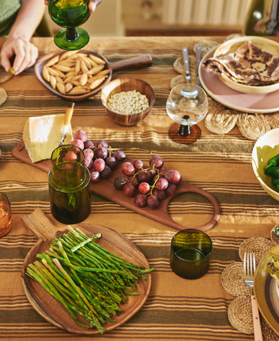
M 252 167 L 261 187 L 279 201 L 279 191 L 271 183 L 271 176 L 264 173 L 268 160 L 279 154 L 279 128 L 269 130 L 255 143 L 252 151 Z

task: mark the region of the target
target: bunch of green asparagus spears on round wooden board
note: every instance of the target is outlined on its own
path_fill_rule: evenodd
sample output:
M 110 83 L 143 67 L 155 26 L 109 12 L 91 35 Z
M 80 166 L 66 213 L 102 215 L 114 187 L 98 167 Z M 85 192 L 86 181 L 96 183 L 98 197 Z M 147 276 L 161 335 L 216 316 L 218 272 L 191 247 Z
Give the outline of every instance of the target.
M 126 295 L 137 295 L 136 282 L 154 268 L 144 268 L 125 261 L 88 238 L 80 229 L 68 225 L 69 232 L 55 238 L 45 253 L 37 254 L 26 268 L 26 275 L 38 281 L 60 301 L 70 316 L 84 328 L 104 332 L 106 322 L 121 311 Z M 78 317 L 84 317 L 89 324 Z

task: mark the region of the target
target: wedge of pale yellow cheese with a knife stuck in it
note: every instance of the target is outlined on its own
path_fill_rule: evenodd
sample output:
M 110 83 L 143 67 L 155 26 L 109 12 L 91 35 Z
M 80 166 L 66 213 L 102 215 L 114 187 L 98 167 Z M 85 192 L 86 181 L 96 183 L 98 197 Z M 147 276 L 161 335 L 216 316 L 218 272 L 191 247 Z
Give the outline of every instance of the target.
M 50 159 L 61 141 L 65 114 L 29 117 L 23 129 L 23 142 L 32 162 Z M 69 126 L 64 144 L 73 141 Z

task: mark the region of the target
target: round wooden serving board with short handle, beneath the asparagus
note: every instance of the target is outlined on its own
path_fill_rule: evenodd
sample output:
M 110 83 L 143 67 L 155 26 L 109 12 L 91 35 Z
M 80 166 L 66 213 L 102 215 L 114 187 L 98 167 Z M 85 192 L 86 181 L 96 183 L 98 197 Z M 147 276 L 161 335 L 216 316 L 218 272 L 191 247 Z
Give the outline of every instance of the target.
M 49 248 L 54 237 L 67 233 L 67 226 L 56 230 L 39 208 L 35 209 L 32 214 L 24 216 L 22 220 L 39 237 L 38 242 L 26 255 L 21 273 L 24 292 L 33 308 L 48 322 L 71 333 L 84 335 L 99 334 L 95 328 L 85 329 L 81 327 L 66 311 L 62 303 L 47 293 L 41 284 L 25 274 L 27 265 L 37 260 L 36 255 L 38 253 L 42 253 Z M 102 236 L 98 239 L 98 244 L 130 263 L 149 268 L 148 262 L 140 249 L 120 233 L 97 225 L 81 223 L 73 226 L 73 228 L 75 227 L 79 227 L 88 236 L 101 232 Z M 105 332 L 119 327 L 135 315 L 146 301 L 150 288 L 151 274 L 148 274 L 147 281 L 140 278 L 137 282 L 136 291 L 139 292 L 139 295 L 127 296 L 127 302 L 119 305 L 122 311 L 119 315 L 113 317 L 116 322 L 108 322 L 104 325 Z

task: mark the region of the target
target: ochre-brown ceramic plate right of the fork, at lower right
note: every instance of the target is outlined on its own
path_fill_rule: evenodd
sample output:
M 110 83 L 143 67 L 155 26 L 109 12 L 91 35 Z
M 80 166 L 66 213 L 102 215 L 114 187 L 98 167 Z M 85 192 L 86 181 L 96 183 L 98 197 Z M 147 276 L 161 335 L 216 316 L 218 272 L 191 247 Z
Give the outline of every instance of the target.
M 279 245 L 272 248 L 260 261 L 256 269 L 254 293 L 261 315 L 279 335 L 279 297 L 275 279 L 267 270 L 272 255 L 279 257 Z

